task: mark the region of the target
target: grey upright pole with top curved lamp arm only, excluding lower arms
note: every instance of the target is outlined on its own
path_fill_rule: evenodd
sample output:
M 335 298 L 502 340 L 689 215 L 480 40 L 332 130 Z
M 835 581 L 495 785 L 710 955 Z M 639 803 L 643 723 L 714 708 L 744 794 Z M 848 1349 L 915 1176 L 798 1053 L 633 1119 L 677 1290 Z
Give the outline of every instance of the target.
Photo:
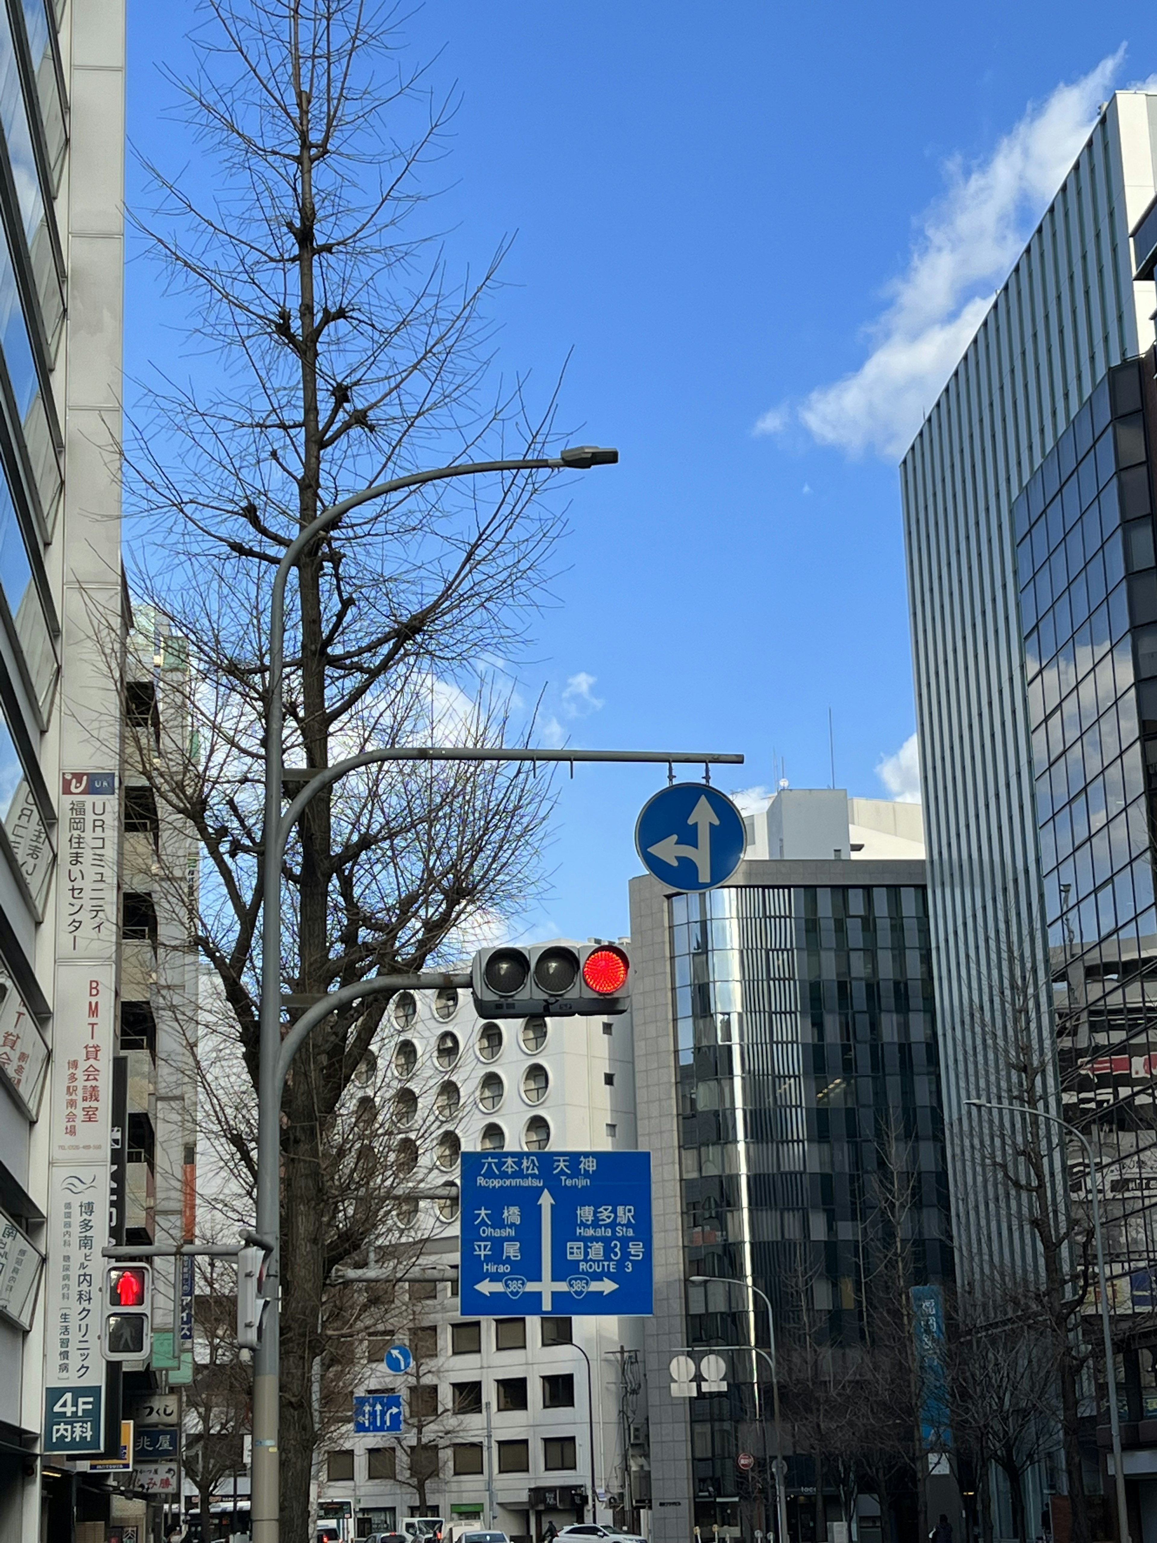
M 262 918 L 261 918 L 261 1009 L 258 1068 L 258 1233 L 270 1239 L 265 1267 L 265 1316 L 253 1353 L 253 1543 L 279 1543 L 281 1472 L 278 1454 L 281 1403 L 281 864 L 285 832 L 281 821 L 284 765 L 284 705 L 281 699 L 285 656 L 285 586 L 302 551 L 350 511 L 407 488 L 450 477 L 483 472 L 586 471 L 612 464 L 617 451 L 572 446 L 560 455 L 523 457 L 440 466 L 433 471 L 393 477 L 342 498 L 295 535 L 278 563 L 270 599 L 268 704 L 265 711 L 265 818 L 262 827 Z M 336 994 L 341 995 L 341 994 Z M 336 1006 L 336 1000 L 332 1008 Z M 330 1008 L 330 1011 L 332 1011 Z M 284 1083 L 284 1075 L 282 1075 Z

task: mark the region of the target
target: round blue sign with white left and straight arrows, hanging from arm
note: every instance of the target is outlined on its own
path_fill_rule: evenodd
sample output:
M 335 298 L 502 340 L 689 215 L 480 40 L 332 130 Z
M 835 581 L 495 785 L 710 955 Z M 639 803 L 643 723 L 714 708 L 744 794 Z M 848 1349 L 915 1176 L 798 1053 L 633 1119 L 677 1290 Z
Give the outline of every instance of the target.
M 676 782 L 643 804 L 634 827 L 643 867 L 673 889 L 725 884 L 747 847 L 744 816 L 705 782 Z

